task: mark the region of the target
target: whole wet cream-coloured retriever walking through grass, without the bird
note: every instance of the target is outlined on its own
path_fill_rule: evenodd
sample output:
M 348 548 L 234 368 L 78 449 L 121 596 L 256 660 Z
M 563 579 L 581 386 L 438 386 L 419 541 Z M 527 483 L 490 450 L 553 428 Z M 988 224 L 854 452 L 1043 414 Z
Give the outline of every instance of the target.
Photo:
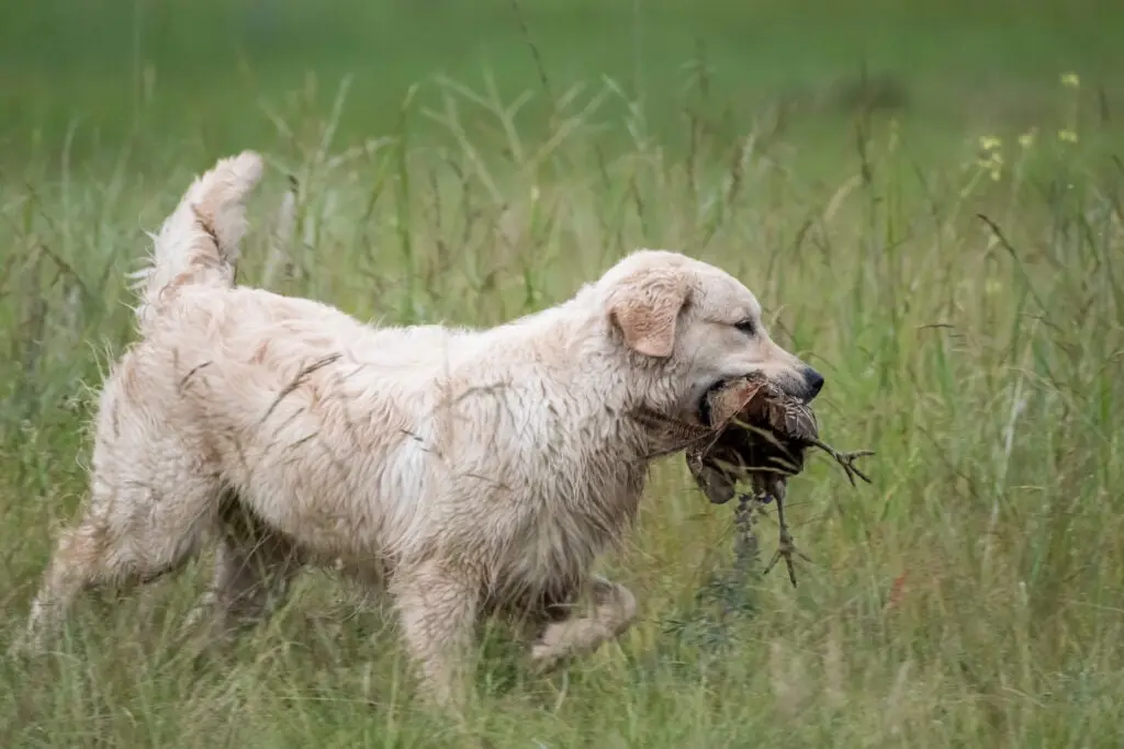
M 636 252 L 490 330 L 372 327 L 236 286 L 261 173 L 254 153 L 220 161 L 154 238 L 140 339 L 105 383 L 89 503 L 28 643 L 83 588 L 151 581 L 217 537 L 212 621 L 253 620 L 301 566 L 342 561 L 389 592 L 430 695 L 455 702 L 484 614 L 529 618 L 544 665 L 634 619 L 633 594 L 590 567 L 654 456 L 681 447 L 637 410 L 697 420 L 709 389 L 754 371 L 809 400 L 823 384 L 745 286 L 677 253 Z

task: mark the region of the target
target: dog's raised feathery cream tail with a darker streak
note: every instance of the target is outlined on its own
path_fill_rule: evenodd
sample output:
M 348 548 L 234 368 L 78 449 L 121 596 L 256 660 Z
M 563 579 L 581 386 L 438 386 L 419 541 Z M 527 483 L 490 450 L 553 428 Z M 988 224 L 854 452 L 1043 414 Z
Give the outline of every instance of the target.
M 174 286 L 234 285 L 238 244 L 246 232 L 245 201 L 262 176 L 262 157 L 252 150 L 223 158 L 197 177 L 153 239 L 146 267 L 130 274 L 139 296 L 142 328 Z

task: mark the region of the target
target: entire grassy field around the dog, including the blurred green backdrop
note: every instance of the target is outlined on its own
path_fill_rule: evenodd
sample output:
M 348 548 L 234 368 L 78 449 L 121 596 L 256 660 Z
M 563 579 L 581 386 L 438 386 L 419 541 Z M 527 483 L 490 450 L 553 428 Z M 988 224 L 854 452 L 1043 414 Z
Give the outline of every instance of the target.
M 826 375 L 825 436 L 877 450 L 874 483 L 814 460 L 799 588 L 722 588 L 732 510 L 667 460 L 604 563 L 642 621 L 549 677 L 489 636 L 455 729 L 378 602 L 320 574 L 189 660 L 202 560 L 0 659 L 0 747 L 1122 746 L 1124 11 L 67 8 L 0 20 L 0 645 L 82 499 L 144 230 L 242 147 L 271 164 L 242 277 L 361 318 L 496 323 L 636 246 L 722 265 Z

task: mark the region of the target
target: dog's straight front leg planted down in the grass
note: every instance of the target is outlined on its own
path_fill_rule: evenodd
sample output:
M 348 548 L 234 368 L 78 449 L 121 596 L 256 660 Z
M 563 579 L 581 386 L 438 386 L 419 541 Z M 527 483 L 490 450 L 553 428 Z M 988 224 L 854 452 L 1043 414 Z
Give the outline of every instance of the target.
M 406 648 L 426 696 L 459 712 L 470 676 L 480 587 L 436 561 L 399 569 L 391 582 Z

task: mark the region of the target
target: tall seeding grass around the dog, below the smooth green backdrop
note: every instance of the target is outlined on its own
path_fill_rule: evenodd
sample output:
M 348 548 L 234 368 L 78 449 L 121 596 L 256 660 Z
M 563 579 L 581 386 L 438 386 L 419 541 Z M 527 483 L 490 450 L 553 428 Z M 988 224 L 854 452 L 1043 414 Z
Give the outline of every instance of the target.
M 519 102 L 444 90 L 352 148 L 333 136 L 345 86 L 337 107 L 274 112 L 242 281 L 361 318 L 487 326 L 633 247 L 679 248 L 742 277 L 825 373 L 824 430 L 878 451 L 873 486 L 815 462 L 790 515 L 816 564 L 797 590 L 783 575 L 727 587 L 747 605 L 716 623 L 696 593 L 731 565 L 731 511 L 669 459 L 605 560 L 638 592 L 638 625 L 547 677 L 490 637 L 456 732 L 415 704 L 378 600 L 319 573 L 229 659 L 187 660 L 192 567 L 87 600 L 51 657 L 0 661 L 0 746 L 1120 746 L 1118 162 L 1081 158 L 1082 131 L 1007 144 L 1001 164 L 971 138 L 963 165 L 925 165 L 910 131 L 860 117 L 850 175 L 821 184 L 783 137 L 718 136 L 705 108 L 672 156 L 631 101 L 631 143 L 591 145 L 613 85 L 525 102 L 552 122 L 537 138 Z M 413 139 L 419 118 L 445 135 Z M 167 158 L 126 150 L 92 171 L 64 155 L 0 182 L 0 640 L 84 492 L 91 387 L 132 336 L 123 276 L 143 229 L 209 166 Z

